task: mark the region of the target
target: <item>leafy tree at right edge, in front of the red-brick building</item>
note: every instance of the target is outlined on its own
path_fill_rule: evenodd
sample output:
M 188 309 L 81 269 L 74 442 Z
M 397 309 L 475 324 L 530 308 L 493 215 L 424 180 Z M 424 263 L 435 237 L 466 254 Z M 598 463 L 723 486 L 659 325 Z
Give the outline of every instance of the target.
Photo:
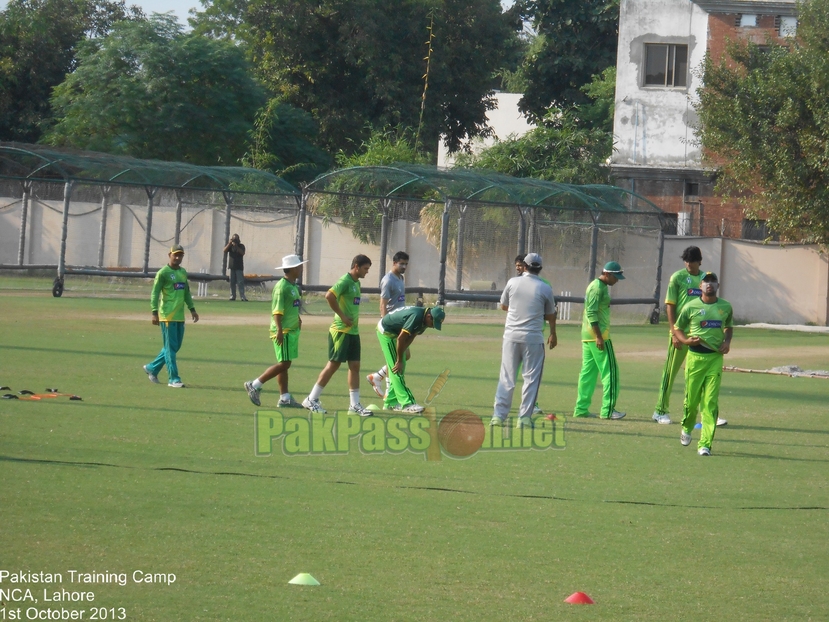
M 790 45 L 704 63 L 698 132 L 718 189 L 781 238 L 829 244 L 829 0 L 799 4 Z

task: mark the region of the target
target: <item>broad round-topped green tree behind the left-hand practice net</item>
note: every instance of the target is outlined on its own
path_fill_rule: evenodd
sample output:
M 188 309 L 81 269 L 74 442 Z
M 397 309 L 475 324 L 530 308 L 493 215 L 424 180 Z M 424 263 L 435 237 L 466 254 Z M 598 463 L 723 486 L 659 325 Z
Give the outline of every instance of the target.
M 86 41 L 54 91 L 54 145 L 194 164 L 235 164 L 265 102 L 232 43 L 182 33 L 170 15 Z

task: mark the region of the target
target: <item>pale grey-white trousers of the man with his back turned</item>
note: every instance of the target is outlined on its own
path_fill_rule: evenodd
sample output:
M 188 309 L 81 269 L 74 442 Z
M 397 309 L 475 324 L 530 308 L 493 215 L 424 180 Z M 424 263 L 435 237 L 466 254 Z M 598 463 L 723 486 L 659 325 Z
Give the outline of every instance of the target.
M 524 387 L 521 389 L 520 417 L 530 417 L 538 399 L 541 387 L 541 374 L 544 371 L 544 344 L 523 343 L 504 340 L 501 349 L 501 377 L 495 392 L 495 414 L 502 419 L 509 416 L 512 408 L 512 394 L 515 392 L 515 377 L 518 366 L 523 364 L 521 376 Z

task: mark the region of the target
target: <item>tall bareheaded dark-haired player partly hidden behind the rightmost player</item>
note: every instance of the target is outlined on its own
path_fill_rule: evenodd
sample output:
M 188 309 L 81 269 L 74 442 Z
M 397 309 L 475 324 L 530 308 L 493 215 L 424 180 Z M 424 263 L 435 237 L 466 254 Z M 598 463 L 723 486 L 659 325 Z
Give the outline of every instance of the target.
M 653 411 L 653 420 L 661 424 L 670 424 L 671 417 L 668 414 L 671 403 L 671 390 L 674 387 L 674 380 L 679 373 L 679 368 L 685 361 L 688 354 L 688 346 L 677 339 L 674 334 L 676 318 L 685 305 L 696 300 L 702 295 L 700 283 L 703 273 L 700 272 L 702 263 L 702 251 L 697 246 L 689 246 L 682 251 L 682 261 L 685 262 L 685 269 L 677 270 L 671 275 L 668 281 L 668 291 L 665 294 L 665 312 L 668 315 L 668 356 L 665 359 L 665 367 L 662 370 L 662 382 L 659 385 L 659 397 L 656 399 L 656 408 Z M 725 419 L 717 419 L 717 425 L 726 425 Z

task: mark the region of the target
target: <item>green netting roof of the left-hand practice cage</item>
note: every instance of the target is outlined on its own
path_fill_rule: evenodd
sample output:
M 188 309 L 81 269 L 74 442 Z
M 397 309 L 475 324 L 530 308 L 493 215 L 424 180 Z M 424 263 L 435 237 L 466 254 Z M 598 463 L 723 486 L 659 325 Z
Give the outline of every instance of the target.
M 196 166 L 139 160 L 42 145 L 0 143 L 0 178 L 150 186 L 192 191 L 299 196 L 285 180 L 265 171 L 234 166 Z

